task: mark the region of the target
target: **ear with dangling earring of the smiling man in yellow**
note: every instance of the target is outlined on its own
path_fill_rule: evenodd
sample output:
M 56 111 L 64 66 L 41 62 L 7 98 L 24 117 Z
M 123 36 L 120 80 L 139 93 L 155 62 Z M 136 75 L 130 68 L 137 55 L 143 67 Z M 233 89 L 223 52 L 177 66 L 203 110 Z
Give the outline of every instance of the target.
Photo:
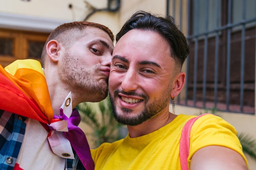
M 185 84 L 185 73 L 180 72 L 174 78 L 173 89 L 170 94 L 171 98 L 175 98 L 177 97 L 177 95 L 179 95 L 179 93 L 182 91 L 184 84 Z

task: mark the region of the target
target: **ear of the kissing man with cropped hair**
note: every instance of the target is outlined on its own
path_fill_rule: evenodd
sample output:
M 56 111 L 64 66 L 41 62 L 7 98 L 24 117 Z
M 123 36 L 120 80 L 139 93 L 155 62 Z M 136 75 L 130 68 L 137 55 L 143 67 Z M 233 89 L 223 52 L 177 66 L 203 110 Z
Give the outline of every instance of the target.
M 61 45 L 56 40 L 50 40 L 46 44 L 46 52 L 53 62 L 58 62 Z

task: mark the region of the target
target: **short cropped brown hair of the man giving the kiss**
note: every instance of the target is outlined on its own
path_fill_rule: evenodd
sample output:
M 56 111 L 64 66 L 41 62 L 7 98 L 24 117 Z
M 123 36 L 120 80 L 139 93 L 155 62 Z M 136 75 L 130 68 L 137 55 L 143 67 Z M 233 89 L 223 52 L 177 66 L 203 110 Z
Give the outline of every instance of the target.
M 94 22 L 87 22 L 87 21 L 76 21 L 76 22 L 64 23 L 58 26 L 56 29 L 54 29 L 52 33 L 50 33 L 48 39 L 46 40 L 45 46 L 43 48 L 43 52 L 41 55 L 42 66 L 44 67 L 45 57 L 47 55 L 45 47 L 50 40 L 56 40 L 62 43 L 63 45 L 65 45 L 66 48 L 69 48 L 70 46 L 72 46 L 72 44 L 74 44 L 74 42 L 77 39 L 84 36 L 84 34 L 82 34 L 82 31 L 84 31 L 85 28 L 88 26 L 93 26 L 105 31 L 110 36 L 110 39 L 112 40 L 112 42 L 114 42 L 114 35 L 112 31 L 104 25 L 97 24 Z

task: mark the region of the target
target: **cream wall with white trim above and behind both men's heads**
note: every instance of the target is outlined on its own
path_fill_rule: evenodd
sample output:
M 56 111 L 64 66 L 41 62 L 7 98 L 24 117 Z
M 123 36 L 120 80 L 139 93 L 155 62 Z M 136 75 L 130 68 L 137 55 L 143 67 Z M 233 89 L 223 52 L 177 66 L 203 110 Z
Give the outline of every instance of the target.
M 107 7 L 107 0 L 86 2 L 88 3 L 84 0 L 0 1 L 0 28 L 51 32 L 62 23 L 83 20 L 90 7 Z M 70 4 L 72 9 L 69 8 Z M 121 25 L 137 10 L 165 15 L 166 0 L 121 0 L 118 12 L 97 12 L 88 21 L 104 24 L 117 34 Z

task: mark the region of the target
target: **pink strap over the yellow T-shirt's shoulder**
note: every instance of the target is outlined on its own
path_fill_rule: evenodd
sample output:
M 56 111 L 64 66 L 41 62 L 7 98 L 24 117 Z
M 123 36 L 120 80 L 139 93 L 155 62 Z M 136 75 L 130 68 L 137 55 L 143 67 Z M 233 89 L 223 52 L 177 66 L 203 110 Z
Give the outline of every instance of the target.
M 208 115 L 210 113 L 204 113 L 202 115 L 199 115 L 197 117 L 193 117 L 189 119 L 189 121 L 186 122 L 184 125 L 181 137 L 180 137 L 180 166 L 181 170 L 189 170 L 188 166 L 188 157 L 189 157 L 189 144 L 190 144 L 190 131 L 195 123 L 195 121 L 202 117 L 203 115 Z

